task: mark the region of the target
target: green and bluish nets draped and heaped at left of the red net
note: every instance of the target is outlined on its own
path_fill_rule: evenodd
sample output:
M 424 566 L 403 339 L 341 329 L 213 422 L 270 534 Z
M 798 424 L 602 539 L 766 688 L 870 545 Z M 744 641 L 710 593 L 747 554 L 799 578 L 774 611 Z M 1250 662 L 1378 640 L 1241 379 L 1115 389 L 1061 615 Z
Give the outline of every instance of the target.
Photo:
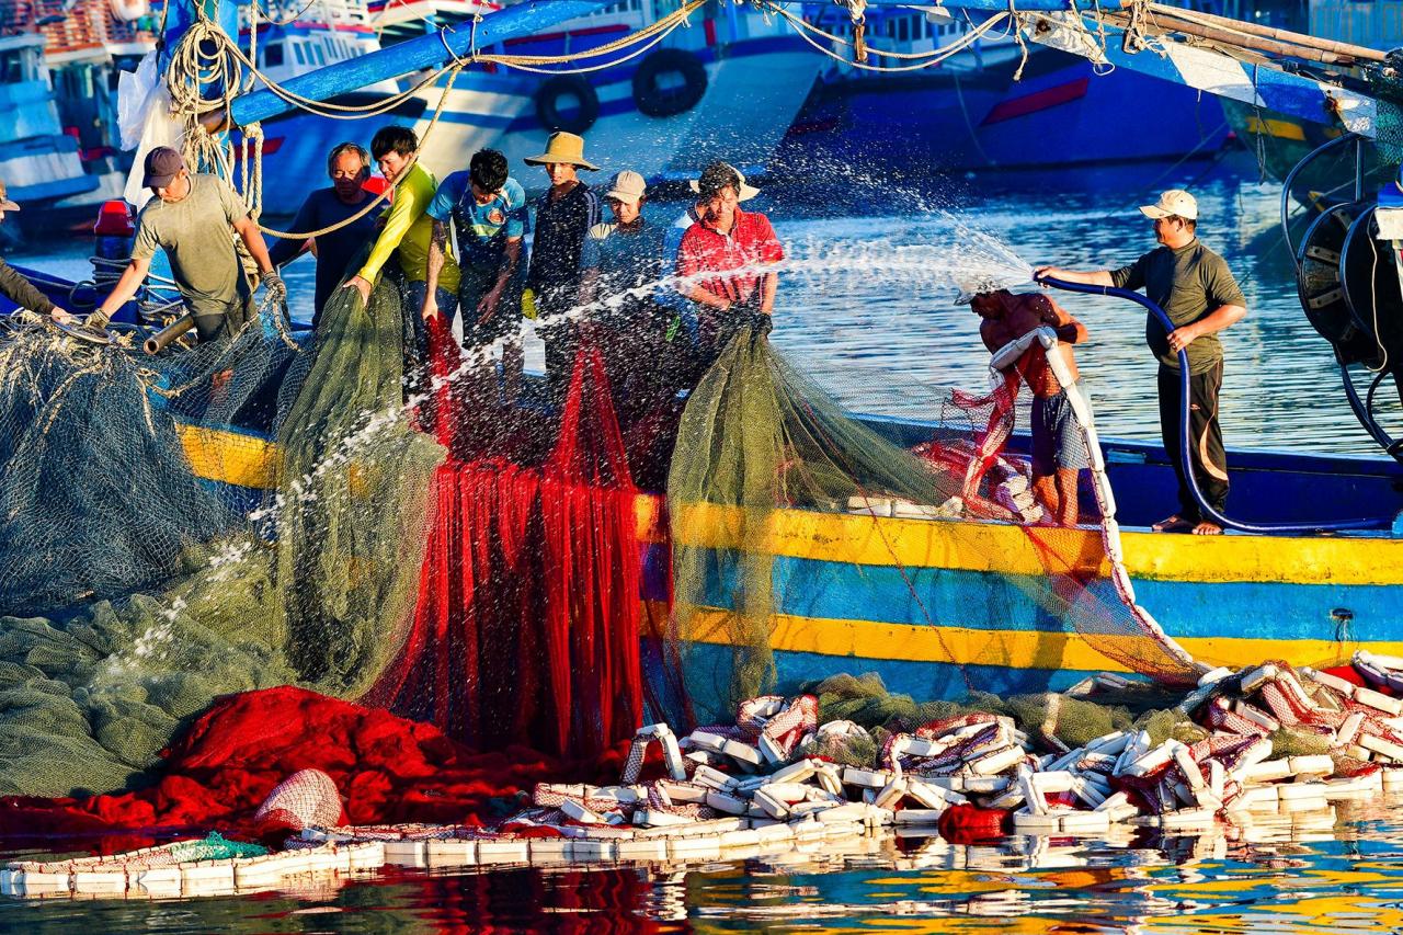
M 219 695 L 363 692 L 404 640 L 442 449 L 396 282 L 147 358 L 0 336 L 0 793 L 140 782 Z M 233 482 L 233 483 L 224 483 Z

